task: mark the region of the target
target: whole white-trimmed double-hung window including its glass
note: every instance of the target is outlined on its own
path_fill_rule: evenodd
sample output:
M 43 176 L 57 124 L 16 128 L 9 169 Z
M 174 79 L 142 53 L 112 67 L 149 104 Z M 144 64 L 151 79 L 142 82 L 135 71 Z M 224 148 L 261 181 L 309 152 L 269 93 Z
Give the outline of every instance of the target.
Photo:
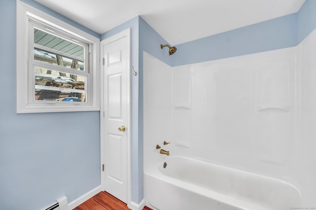
M 100 40 L 17 3 L 17 113 L 99 110 Z

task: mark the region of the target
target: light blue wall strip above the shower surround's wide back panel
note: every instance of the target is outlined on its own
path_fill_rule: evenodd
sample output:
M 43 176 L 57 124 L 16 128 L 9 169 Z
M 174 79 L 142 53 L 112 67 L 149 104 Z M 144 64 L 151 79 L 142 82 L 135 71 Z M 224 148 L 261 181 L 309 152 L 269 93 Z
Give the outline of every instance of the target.
M 296 13 L 179 44 L 172 66 L 293 47 Z

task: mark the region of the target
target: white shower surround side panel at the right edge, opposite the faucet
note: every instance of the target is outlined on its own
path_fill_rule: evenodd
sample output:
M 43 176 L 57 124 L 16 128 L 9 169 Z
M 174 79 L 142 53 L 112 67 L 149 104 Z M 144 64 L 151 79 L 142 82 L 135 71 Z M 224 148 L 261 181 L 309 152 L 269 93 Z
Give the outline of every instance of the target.
M 311 207 L 316 207 L 316 30 L 303 40 L 299 47 L 302 71 L 302 140 L 299 179 L 304 189 L 304 202 Z

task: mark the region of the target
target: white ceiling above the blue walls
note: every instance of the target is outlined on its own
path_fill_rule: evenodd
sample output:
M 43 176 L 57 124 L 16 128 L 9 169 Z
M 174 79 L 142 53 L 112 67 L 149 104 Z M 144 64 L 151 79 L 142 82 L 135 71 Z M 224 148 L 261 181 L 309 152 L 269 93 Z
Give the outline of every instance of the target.
M 295 13 L 305 0 L 35 0 L 103 34 L 140 15 L 171 45 Z

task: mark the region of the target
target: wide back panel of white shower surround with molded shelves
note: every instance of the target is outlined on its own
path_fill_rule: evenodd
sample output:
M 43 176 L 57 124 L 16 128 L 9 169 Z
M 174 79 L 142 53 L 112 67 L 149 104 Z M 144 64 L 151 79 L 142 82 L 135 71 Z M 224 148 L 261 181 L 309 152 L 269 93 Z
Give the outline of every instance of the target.
M 172 86 L 176 154 L 275 177 L 293 167 L 295 48 L 174 67 Z

